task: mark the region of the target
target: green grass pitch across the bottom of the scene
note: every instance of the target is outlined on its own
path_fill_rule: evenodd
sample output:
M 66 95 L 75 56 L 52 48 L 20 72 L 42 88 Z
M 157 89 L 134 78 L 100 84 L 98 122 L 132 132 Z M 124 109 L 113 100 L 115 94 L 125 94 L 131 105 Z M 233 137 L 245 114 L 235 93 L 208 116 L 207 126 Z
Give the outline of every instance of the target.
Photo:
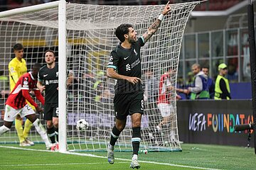
M 141 169 L 255 169 L 256 155 L 252 148 L 194 144 L 183 144 L 181 147 L 182 152 L 139 154 Z M 116 152 L 117 160 L 111 165 L 107 162 L 107 152 L 82 152 L 80 154 L 100 156 L 83 157 L 58 152 L 41 152 L 40 149 L 45 150 L 45 146 L 1 145 L 0 169 L 129 169 L 132 157 L 132 152 Z

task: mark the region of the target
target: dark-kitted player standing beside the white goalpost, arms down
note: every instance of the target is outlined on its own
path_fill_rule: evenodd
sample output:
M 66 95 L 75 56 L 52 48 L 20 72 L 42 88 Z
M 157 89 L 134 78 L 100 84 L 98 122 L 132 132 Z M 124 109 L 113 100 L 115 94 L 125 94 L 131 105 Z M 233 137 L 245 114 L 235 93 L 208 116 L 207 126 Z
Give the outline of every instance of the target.
M 55 53 L 53 50 L 45 52 L 46 66 L 43 66 L 38 73 L 38 89 L 46 90 L 45 96 L 45 120 L 47 133 L 50 141 L 55 147 L 52 150 L 58 150 L 58 64 L 55 63 Z M 55 142 L 55 136 L 57 142 Z

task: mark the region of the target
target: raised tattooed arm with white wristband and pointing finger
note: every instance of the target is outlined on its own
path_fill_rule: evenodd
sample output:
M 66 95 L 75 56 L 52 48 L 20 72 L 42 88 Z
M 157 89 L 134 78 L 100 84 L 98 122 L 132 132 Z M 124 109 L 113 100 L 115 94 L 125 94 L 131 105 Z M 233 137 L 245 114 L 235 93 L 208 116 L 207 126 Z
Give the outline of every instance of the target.
M 161 12 L 159 18 L 156 19 L 156 21 L 154 21 L 154 23 L 149 26 L 149 28 L 146 30 L 146 33 L 144 33 L 142 35 L 142 37 L 144 38 L 144 41 L 148 41 L 149 38 L 151 38 L 151 36 L 156 33 L 156 30 L 158 30 L 158 28 L 160 27 L 161 21 L 163 21 L 164 16 L 171 11 L 171 6 L 169 5 L 169 1 L 166 4 L 166 6 L 164 6 L 164 10 Z

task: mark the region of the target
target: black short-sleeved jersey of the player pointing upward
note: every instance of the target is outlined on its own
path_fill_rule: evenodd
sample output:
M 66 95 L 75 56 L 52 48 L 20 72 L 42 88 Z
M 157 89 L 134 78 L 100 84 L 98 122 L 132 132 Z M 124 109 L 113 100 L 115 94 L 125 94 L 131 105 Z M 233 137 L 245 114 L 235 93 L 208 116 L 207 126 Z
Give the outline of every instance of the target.
M 140 49 L 144 45 L 144 39 L 141 37 L 132 44 L 130 49 L 124 49 L 121 43 L 110 53 L 110 62 L 108 68 L 114 68 L 118 74 L 127 77 L 142 77 L 142 63 L 140 58 Z M 142 82 L 137 84 L 129 83 L 124 79 L 118 79 L 114 86 L 115 94 L 129 94 L 134 91 L 143 91 Z

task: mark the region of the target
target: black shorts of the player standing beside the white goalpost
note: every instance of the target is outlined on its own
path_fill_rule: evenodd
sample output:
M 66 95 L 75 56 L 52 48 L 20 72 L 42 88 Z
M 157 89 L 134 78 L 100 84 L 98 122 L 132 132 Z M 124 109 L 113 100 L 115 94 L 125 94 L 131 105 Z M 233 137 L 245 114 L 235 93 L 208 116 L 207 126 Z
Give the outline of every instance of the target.
M 45 103 L 44 120 L 53 120 L 58 118 L 58 103 Z

